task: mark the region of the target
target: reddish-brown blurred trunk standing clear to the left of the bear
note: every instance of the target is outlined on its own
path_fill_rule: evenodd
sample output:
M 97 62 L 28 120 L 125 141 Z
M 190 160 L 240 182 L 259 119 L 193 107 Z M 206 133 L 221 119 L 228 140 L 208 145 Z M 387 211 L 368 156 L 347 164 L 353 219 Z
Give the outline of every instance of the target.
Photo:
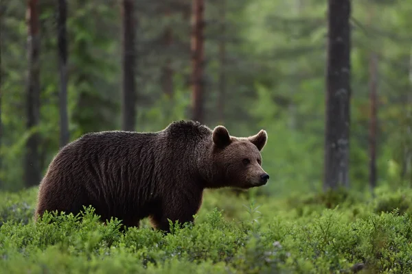
M 38 0 L 27 1 L 27 27 L 28 27 L 28 77 L 27 77 L 27 130 L 34 132 L 26 143 L 25 151 L 25 186 L 36 186 L 41 180 L 39 164 L 39 135 L 38 124 L 40 120 L 40 35 L 38 21 Z

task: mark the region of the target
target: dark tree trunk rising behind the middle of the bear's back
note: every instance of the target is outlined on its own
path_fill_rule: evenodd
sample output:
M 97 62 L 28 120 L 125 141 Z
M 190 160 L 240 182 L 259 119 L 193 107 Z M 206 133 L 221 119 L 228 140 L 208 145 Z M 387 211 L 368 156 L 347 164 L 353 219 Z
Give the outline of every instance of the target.
M 122 129 L 133 131 L 136 121 L 135 84 L 135 8 L 133 0 L 122 1 L 123 18 L 123 93 Z

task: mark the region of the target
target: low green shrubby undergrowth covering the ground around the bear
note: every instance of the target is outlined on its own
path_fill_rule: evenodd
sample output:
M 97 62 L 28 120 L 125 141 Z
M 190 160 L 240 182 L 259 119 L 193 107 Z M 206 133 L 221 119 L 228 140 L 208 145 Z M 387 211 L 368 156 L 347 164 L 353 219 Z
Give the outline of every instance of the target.
M 36 188 L 0 193 L 0 273 L 411 273 L 412 190 L 284 199 L 205 192 L 194 225 L 171 233 L 46 214 Z M 47 223 L 50 219 L 54 222 Z

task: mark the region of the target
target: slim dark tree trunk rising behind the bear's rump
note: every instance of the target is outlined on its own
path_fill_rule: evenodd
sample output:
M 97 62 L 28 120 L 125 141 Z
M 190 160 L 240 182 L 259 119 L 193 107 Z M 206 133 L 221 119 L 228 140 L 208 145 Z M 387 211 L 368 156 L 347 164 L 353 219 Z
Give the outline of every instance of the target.
M 66 36 L 67 3 L 58 0 L 58 58 L 60 70 L 60 147 L 69 142 L 69 118 L 67 115 L 67 36 Z

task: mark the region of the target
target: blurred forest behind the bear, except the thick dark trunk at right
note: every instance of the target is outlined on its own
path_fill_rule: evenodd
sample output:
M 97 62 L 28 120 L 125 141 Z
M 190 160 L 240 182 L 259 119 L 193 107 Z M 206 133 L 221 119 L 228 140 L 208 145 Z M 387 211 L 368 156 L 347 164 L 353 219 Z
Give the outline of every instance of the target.
M 38 185 L 59 147 L 82 134 L 159 131 L 179 119 L 234 136 L 266 129 L 271 179 L 261 193 L 327 184 L 325 1 L 27 3 L 0 2 L 2 190 Z M 352 2 L 352 190 L 412 182 L 411 12 L 410 1 Z

